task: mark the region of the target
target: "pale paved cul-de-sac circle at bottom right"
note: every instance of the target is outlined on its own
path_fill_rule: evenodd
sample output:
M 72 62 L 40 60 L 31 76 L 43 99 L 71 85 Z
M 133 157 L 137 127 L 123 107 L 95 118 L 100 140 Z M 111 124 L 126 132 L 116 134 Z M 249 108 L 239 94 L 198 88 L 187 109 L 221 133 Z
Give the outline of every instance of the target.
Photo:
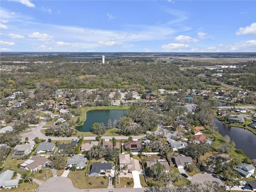
M 204 183 L 205 181 L 210 181 L 212 183 L 217 184 L 218 186 L 225 186 L 224 183 L 219 178 L 215 178 L 211 174 L 207 173 L 195 174 L 191 180 L 192 183 Z

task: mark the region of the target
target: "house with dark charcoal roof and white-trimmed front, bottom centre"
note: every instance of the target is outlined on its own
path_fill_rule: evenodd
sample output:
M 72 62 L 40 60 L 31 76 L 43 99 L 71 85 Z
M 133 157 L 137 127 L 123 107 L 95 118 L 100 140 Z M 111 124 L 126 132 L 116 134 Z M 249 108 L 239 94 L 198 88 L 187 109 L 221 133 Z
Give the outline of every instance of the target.
M 101 175 L 106 175 L 106 173 L 113 172 L 113 166 L 111 163 L 101 162 L 101 163 L 93 163 L 91 166 L 89 177 L 98 177 Z

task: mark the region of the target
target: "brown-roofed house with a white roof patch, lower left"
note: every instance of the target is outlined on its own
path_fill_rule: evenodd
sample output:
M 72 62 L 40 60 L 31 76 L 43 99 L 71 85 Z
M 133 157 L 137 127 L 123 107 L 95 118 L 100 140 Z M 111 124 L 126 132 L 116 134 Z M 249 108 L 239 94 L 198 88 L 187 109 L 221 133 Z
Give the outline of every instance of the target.
M 46 164 L 49 164 L 49 159 L 42 156 L 32 156 L 30 159 L 26 160 L 20 165 L 22 169 L 35 172 L 41 170 Z

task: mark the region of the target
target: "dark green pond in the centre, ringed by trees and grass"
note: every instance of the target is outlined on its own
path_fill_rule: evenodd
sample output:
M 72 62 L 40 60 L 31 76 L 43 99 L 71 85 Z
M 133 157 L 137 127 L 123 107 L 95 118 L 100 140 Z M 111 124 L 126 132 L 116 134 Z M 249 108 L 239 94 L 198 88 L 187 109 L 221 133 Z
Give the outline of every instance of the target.
M 105 109 L 105 110 L 89 110 L 86 113 L 86 119 L 84 124 L 77 126 L 76 130 L 81 132 L 91 131 L 93 123 L 104 123 L 105 126 L 108 125 L 108 119 L 111 119 L 111 122 L 118 121 L 127 110 L 118 110 L 118 109 Z

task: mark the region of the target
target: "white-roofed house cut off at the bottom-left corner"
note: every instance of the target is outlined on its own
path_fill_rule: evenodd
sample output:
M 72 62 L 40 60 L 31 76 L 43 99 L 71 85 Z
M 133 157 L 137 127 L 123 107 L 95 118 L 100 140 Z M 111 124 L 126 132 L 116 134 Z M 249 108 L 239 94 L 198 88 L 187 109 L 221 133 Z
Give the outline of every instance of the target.
M 0 174 L 0 189 L 18 187 L 19 179 L 12 179 L 14 171 L 6 170 Z

